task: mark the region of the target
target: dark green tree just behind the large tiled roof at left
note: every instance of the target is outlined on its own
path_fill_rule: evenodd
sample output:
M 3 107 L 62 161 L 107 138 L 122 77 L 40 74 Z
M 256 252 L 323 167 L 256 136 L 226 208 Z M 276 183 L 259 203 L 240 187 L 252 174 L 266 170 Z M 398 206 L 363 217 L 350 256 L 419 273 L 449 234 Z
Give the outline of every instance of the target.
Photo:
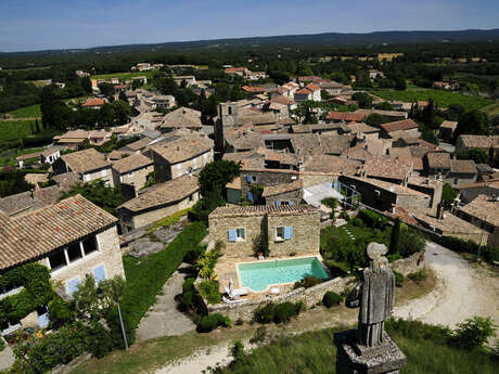
M 68 192 L 63 192 L 61 199 L 80 194 L 105 211 L 117 216 L 116 208 L 124 203 L 118 189 L 105 185 L 102 179 L 74 185 Z

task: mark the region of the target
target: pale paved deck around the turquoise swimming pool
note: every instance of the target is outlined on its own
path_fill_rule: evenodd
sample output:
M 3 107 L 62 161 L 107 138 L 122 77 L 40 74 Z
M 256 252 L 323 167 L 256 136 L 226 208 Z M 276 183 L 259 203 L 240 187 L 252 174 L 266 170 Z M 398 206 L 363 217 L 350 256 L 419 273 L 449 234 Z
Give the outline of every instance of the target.
M 218 282 L 220 285 L 220 293 L 225 294 L 225 287 L 229 287 L 229 280 L 232 278 L 234 282 L 234 288 L 241 288 L 242 285 L 240 283 L 239 274 L 238 274 L 238 265 L 241 262 L 261 262 L 261 261 L 269 261 L 269 260 L 292 260 L 305 257 L 318 257 L 322 260 L 320 254 L 316 252 L 310 252 L 308 254 L 300 254 L 299 257 L 289 256 L 289 257 L 266 257 L 265 260 L 258 260 L 255 256 L 245 256 L 245 257 L 227 257 L 222 256 L 218 259 L 217 266 L 215 267 L 215 273 L 218 274 Z M 286 284 L 277 284 L 276 287 L 279 288 L 280 294 L 284 294 L 291 289 L 293 289 L 294 283 L 286 283 Z M 244 296 L 245 299 L 259 299 L 265 295 L 270 295 L 270 288 L 268 287 L 266 291 L 263 292 L 253 292 L 250 291 L 250 294 Z

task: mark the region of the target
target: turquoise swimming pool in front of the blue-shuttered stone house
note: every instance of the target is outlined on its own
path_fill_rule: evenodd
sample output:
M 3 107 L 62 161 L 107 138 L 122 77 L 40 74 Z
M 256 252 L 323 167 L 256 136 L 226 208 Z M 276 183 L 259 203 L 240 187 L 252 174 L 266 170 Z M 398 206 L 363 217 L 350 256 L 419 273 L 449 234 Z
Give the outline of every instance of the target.
M 317 257 L 239 263 L 238 268 L 242 286 L 255 292 L 265 291 L 271 284 L 300 281 L 307 275 L 328 278 Z

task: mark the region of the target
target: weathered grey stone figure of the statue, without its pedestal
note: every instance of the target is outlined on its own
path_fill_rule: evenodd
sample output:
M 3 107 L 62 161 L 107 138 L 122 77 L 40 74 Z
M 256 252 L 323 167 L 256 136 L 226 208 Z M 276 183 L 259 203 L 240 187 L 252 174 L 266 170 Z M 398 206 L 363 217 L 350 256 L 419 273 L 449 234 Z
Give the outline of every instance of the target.
M 384 321 L 394 307 L 395 275 L 388 268 L 386 246 L 368 245 L 369 268 L 363 270 L 360 284 L 348 296 L 349 308 L 360 307 L 358 344 L 375 347 L 383 344 Z

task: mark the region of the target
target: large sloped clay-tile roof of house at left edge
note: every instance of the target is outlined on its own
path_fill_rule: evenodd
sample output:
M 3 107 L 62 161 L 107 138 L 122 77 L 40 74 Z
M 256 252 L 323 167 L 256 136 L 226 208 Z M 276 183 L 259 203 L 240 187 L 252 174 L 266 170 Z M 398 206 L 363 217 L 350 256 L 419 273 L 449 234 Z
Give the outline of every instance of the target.
M 10 219 L 2 216 L 1 220 L 2 269 L 38 258 L 117 222 L 116 217 L 81 195 L 25 216 Z

